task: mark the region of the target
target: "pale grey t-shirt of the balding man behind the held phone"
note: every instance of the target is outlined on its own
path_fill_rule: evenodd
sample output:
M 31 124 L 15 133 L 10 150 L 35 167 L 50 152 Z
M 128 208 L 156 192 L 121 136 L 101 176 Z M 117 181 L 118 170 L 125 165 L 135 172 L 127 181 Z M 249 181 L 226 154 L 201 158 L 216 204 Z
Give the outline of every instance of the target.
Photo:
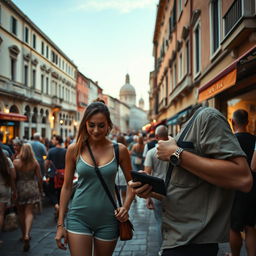
M 156 147 L 154 147 L 147 152 L 144 166 L 149 166 L 152 168 L 152 176 L 165 179 L 169 162 L 159 160 L 156 157 Z

